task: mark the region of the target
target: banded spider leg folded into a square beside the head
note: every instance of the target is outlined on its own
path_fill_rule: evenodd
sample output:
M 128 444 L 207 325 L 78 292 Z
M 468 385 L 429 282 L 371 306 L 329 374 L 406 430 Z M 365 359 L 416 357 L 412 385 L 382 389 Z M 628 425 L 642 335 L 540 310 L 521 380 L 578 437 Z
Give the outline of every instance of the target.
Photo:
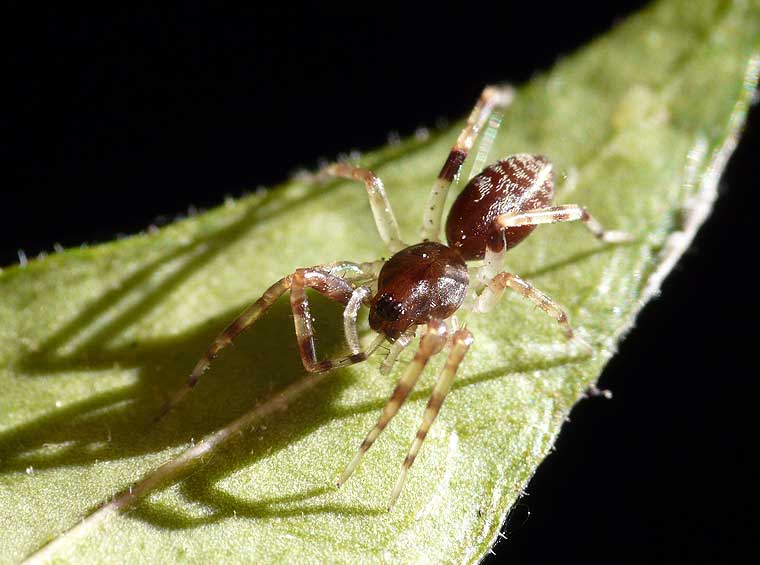
M 317 360 L 317 351 L 314 344 L 314 326 L 312 325 L 311 311 L 309 310 L 309 299 L 306 297 L 306 288 L 313 288 L 320 294 L 340 302 L 341 304 L 348 306 L 351 302 L 351 297 L 354 295 L 354 288 L 345 279 L 331 275 L 325 271 L 319 269 L 298 269 L 293 273 L 293 279 L 290 285 L 290 305 L 293 309 L 293 323 L 295 325 L 296 339 L 298 341 L 298 349 L 301 353 L 301 361 L 304 368 L 310 373 L 319 373 L 322 371 L 329 371 L 336 367 L 345 367 L 347 365 L 353 365 L 354 363 L 360 363 L 367 359 L 371 351 L 363 352 L 358 351 L 358 337 L 356 340 L 351 340 L 351 347 L 357 346 L 357 351 L 347 355 L 345 357 L 338 357 L 335 359 L 325 359 L 323 361 Z M 353 304 L 357 312 L 361 304 Z M 353 328 L 349 327 L 347 333 L 356 335 L 356 315 L 351 315 L 353 318 Z M 345 318 L 344 318 L 345 320 Z M 375 340 L 373 347 L 377 347 L 380 341 Z

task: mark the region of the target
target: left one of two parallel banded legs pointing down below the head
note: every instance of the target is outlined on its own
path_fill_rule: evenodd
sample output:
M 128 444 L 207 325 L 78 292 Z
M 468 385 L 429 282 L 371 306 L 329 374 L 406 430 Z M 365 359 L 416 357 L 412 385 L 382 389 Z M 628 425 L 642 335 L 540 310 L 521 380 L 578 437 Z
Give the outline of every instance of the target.
M 398 413 L 399 408 L 401 408 L 401 405 L 406 401 L 409 393 L 412 392 L 414 385 L 417 384 L 417 381 L 430 358 L 443 349 L 443 346 L 446 344 L 446 332 L 445 323 L 441 321 L 431 321 L 428 323 L 427 332 L 420 339 L 420 346 L 417 349 L 414 359 L 412 359 L 412 362 L 406 367 L 404 374 L 399 379 L 398 384 L 383 408 L 383 412 L 378 418 L 375 427 L 372 428 L 367 434 L 367 437 L 364 438 L 364 441 L 362 441 L 359 446 L 359 451 L 357 451 L 354 458 L 338 479 L 338 486 L 345 483 L 353 474 L 359 466 L 362 457 L 364 457 L 364 454 L 370 447 L 372 447 L 372 444 L 388 425 L 388 422 L 390 422 Z

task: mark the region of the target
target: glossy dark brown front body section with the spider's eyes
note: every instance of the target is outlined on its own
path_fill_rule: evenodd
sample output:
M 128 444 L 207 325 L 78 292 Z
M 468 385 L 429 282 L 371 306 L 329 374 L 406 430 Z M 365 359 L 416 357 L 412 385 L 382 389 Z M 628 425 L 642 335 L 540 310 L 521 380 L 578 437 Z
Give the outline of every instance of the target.
M 467 264 L 455 249 L 432 241 L 402 249 L 380 271 L 369 325 L 396 340 L 411 326 L 451 316 L 468 284 Z

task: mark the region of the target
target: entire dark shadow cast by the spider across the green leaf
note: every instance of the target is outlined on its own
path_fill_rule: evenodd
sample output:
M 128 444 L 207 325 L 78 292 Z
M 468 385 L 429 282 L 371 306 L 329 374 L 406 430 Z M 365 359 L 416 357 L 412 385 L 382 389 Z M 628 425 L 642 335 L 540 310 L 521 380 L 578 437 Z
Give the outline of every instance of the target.
M 384 150 L 370 166 L 381 167 L 401 154 L 409 155 L 434 141 L 434 137 L 412 139 L 392 146 Z M 16 368 L 31 378 L 35 375 L 50 376 L 113 367 L 136 369 L 137 376 L 124 388 L 94 393 L 85 400 L 55 409 L 0 434 L 0 472 L 115 461 L 185 445 L 191 438 L 201 438 L 247 412 L 257 400 L 302 378 L 304 370 L 296 347 L 292 313 L 287 297 L 283 297 L 267 315 L 238 338 L 235 347 L 223 352 L 199 386 L 174 413 L 154 424 L 153 417 L 168 394 L 184 384 L 189 370 L 208 344 L 256 297 L 251 296 L 246 302 L 218 313 L 179 335 L 133 342 L 120 338 L 130 327 L 149 316 L 189 277 L 208 268 L 209 263 L 227 246 L 246 237 L 253 226 L 276 218 L 284 210 L 291 211 L 310 199 L 326 195 L 338 184 L 331 182 L 316 186 L 305 195 L 290 200 L 281 199 L 277 192 L 265 194 L 240 219 L 202 240 L 170 249 L 159 259 L 146 262 L 140 269 L 125 276 L 118 286 L 82 309 L 72 320 L 55 329 L 34 351 L 23 355 Z M 361 184 L 357 183 L 356 189 L 363 193 Z M 597 248 L 578 259 L 603 250 Z M 159 269 L 175 262 L 178 264 L 176 269 L 162 280 L 154 280 Z M 312 296 L 312 307 L 318 320 L 321 355 L 327 356 L 336 348 L 344 347 L 340 309 L 319 295 Z M 109 321 L 100 324 L 106 316 Z M 573 361 L 572 358 L 558 358 L 551 364 L 562 365 Z M 501 367 L 461 379 L 454 384 L 454 389 L 546 366 L 546 360 L 526 360 L 522 366 Z M 328 422 L 363 412 L 379 412 L 387 401 L 385 397 L 350 408 L 330 408 L 336 396 L 350 382 L 349 375 L 345 371 L 336 372 L 334 379 L 313 390 L 308 407 L 299 408 L 299 418 L 274 416 L 276 421 L 272 425 L 281 426 L 283 433 L 259 439 L 243 437 L 233 442 L 233 446 L 223 448 L 229 450 L 229 456 L 223 458 L 224 463 L 219 463 L 221 458 L 215 458 L 212 464 L 196 470 L 192 478 L 185 481 L 181 487 L 183 495 L 188 501 L 213 507 L 211 517 L 202 520 L 172 517 L 159 506 L 148 504 L 141 505 L 136 515 L 164 527 L 187 528 L 233 515 L 282 517 L 301 513 L 373 514 L 384 511 L 380 507 L 309 503 L 310 499 L 328 490 L 319 485 L 291 497 L 255 503 L 237 499 L 216 488 L 221 479 L 236 469 L 276 453 Z M 430 386 L 421 388 L 411 398 L 426 398 L 431 391 Z

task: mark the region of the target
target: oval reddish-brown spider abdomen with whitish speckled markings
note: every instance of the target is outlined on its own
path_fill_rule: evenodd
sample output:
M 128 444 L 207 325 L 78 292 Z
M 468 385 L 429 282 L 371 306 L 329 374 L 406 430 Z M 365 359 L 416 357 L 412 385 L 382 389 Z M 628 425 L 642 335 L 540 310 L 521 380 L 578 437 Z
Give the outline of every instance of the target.
M 504 239 L 507 248 L 512 248 L 536 226 L 502 230 L 494 219 L 501 214 L 549 206 L 553 198 L 551 162 L 543 155 L 511 155 L 486 167 L 467 183 L 449 211 L 446 239 L 468 261 L 482 259 L 486 246 L 501 251 Z

